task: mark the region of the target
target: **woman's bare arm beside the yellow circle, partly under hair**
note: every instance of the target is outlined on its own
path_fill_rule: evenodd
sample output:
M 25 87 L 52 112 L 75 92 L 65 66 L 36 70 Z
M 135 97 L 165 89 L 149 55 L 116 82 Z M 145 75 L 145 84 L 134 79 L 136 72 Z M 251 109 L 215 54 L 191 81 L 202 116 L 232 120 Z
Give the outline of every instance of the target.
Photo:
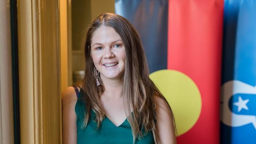
M 173 117 L 169 105 L 165 100 L 155 97 L 156 109 L 158 112 L 156 128 L 161 144 L 176 144 Z

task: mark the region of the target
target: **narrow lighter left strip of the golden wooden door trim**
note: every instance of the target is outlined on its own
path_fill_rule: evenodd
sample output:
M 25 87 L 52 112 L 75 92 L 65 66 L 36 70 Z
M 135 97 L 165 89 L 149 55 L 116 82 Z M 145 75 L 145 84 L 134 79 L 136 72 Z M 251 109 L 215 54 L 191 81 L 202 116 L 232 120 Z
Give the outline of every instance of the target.
M 32 18 L 30 1 L 17 6 L 18 13 L 18 52 L 20 81 L 20 142 L 32 144 L 33 127 L 33 49 L 32 49 Z

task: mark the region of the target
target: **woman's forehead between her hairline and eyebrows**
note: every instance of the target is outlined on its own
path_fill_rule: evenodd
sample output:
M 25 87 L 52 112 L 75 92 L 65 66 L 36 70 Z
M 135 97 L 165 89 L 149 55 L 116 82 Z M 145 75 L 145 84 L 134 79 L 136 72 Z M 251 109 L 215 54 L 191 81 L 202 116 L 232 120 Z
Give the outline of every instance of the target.
M 93 32 L 91 44 L 108 44 L 118 39 L 121 39 L 121 37 L 112 27 L 100 26 Z

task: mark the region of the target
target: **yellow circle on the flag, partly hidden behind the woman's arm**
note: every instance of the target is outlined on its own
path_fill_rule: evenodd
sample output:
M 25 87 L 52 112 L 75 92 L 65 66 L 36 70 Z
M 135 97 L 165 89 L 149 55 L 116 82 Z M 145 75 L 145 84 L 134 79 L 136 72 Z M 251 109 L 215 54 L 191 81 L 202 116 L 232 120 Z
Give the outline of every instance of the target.
M 200 91 L 195 82 L 176 70 L 158 70 L 149 77 L 173 110 L 178 136 L 189 131 L 197 122 L 202 108 Z

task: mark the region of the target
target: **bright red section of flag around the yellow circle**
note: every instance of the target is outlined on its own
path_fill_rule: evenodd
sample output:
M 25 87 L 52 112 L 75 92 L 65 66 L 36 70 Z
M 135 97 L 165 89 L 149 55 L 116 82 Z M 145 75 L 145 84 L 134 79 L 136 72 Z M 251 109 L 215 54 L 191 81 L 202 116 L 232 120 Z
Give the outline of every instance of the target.
M 219 144 L 223 0 L 169 0 L 167 68 L 196 83 L 199 119 L 178 144 Z

